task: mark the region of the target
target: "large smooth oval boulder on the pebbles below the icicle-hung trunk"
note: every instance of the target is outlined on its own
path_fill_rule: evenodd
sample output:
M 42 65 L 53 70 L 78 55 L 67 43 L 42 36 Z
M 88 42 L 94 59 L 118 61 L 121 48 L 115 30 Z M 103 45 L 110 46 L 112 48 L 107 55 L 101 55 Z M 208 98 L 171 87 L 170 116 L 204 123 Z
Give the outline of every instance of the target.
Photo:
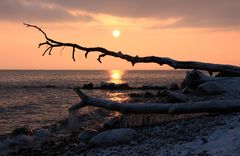
M 120 144 L 128 144 L 137 135 L 137 132 L 130 128 L 113 129 L 99 133 L 91 139 L 89 147 L 108 147 Z

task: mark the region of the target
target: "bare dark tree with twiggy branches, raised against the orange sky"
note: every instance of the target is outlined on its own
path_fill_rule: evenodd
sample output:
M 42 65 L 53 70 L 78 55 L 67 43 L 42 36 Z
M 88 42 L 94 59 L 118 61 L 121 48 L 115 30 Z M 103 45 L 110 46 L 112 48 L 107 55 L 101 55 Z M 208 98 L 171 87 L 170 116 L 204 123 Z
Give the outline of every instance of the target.
M 98 52 L 99 56 L 97 60 L 100 63 L 102 63 L 101 59 L 103 57 L 113 56 L 113 57 L 121 58 L 128 62 L 131 62 L 133 66 L 136 63 L 157 63 L 159 65 L 164 65 L 164 64 L 169 65 L 174 69 L 199 69 L 199 70 L 208 71 L 210 74 L 212 74 L 213 72 L 221 72 L 221 73 L 228 73 L 233 75 L 240 75 L 240 67 L 233 66 L 233 65 L 222 65 L 222 64 L 203 63 L 203 62 L 194 62 L 194 61 L 177 61 L 167 57 L 156 57 L 156 56 L 147 56 L 147 57 L 139 57 L 138 55 L 131 56 L 131 55 L 123 54 L 121 51 L 114 52 L 102 47 L 84 47 L 74 43 L 64 43 L 64 42 L 56 41 L 49 38 L 41 28 L 35 25 L 26 24 L 26 23 L 24 23 L 24 25 L 26 25 L 27 27 L 36 28 L 44 35 L 46 41 L 39 44 L 39 47 L 43 45 L 48 46 L 47 49 L 42 54 L 43 56 L 47 53 L 51 55 L 53 48 L 56 48 L 56 47 L 71 47 L 73 61 L 76 60 L 75 52 L 76 52 L 76 49 L 78 49 L 85 52 L 86 58 L 89 53 Z

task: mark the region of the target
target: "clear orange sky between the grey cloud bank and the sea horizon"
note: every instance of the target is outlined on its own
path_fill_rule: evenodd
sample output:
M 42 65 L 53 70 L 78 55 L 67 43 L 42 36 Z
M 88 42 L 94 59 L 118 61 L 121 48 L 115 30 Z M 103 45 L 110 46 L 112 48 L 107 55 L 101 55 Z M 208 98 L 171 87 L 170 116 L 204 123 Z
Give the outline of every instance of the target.
M 28 0 L 18 1 L 27 8 L 33 5 Z M 3 2 L 6 1 L 3 0 Z M 44 2 L 41 2 L 41 5 L 44 4 L 41 7 L 47 7 L 51 11 L 56 9 L 55 5 L 50 5 L 48 1 Z M 6 5 L 9 7 L 13 4 Z M 0 4 L 0 9 L 1 7 L 4 5 Z M 61 49 L 54 49 L 52 56 L 42 57 L 44 48 L 38 49 L 37 46 L 40 41 L 44 41 L 43 36 L 36 30 L 26 28 L 22 22 L 42 27 L 49 37 L 56 40 L 78 43 L 83 46 L 102 46 L 130 55 L 155 55 L 177 60 L 240 66 L 238 23 L 226 20 L 221 23 L 221 18 L 211 17 L 211 20 L 216 19 L 216 23 L 204 23 L 205 25 L 194 23 L 199 26 L 193 26 L 186 22 L 184 26 L 178 26 L 178 23 L 186 19 L 186 15 L 179 14 L 177 17 L 170 14 L 169 17 L 162 18 L 152 14 L 144 16 L 144 11 L 142 11 L 143 15 L 136 17 L 139 15 L 137 12 L 136 15 L 131 15 L 131 12 L 130 15 L 122 15 L 121 12 L 111 13 L 111 10 L 94 12 L 87 7 L 86 9 L 65 7 L 65 5 L 61 7 L 73 17 L 89 16 L 94 20 L 63 18 L 59 21 L 51 21 L 39 18 L 37 15 L 29 17 L 28 14 L 23 14 L 20 16 L 16 9 L 14 13 L 6 12 L 6 17 L 0 16 L 0 69 L 169 69 L 167 66 L 160 68 L 156 64 L 136 64 L 132 67 L 128 62 L 112 57 L 103 58 L 103 63 L 100 64 L 96 60 L 97 55 L 90 54 L 86 60 L 81 51 L 78 51 L 77 60 L 73 62 L 71 49 L 67 48 L 62 51 L 62 54 Z M 15 16 L 17 17 L 14 18 Z M 112 36 L 114 29 L 120 30 L 119 38 Z

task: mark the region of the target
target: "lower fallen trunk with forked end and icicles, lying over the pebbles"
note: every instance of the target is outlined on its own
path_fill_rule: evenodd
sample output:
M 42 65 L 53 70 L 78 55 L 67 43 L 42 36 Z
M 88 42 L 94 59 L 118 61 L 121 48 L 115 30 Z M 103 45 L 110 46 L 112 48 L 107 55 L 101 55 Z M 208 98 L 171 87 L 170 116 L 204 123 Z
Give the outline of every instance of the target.
M 133 114 L 186 114 L 204 112 L 240 112 L 240 100 L 211 100 L 189 103 L 119 103 L 85 95 L 75 88 L 74 91 L 81 98 L 81 102 L 69 110 L 77 110 L 85 106 L 95 106 L 111 111 Z

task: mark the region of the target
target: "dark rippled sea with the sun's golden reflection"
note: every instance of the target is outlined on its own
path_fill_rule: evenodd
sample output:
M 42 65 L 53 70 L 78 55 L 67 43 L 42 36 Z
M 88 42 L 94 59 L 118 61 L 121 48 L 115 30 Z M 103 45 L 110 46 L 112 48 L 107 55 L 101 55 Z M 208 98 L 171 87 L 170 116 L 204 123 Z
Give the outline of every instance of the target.
M 181 70 L 0 70 L 0 134 L 23 125 L 37 128 L 66 118 L 68 108 L 79 102 L 79 97 L 71 88 L 82 86 L 84 83 L 128 83 L 134 87 L 168 85 L 171 82 L 180 82 L 184 76 L 185 71 Z M 129 92 L 83 91 L 88 95 L 116 101 L 126 100 Z

